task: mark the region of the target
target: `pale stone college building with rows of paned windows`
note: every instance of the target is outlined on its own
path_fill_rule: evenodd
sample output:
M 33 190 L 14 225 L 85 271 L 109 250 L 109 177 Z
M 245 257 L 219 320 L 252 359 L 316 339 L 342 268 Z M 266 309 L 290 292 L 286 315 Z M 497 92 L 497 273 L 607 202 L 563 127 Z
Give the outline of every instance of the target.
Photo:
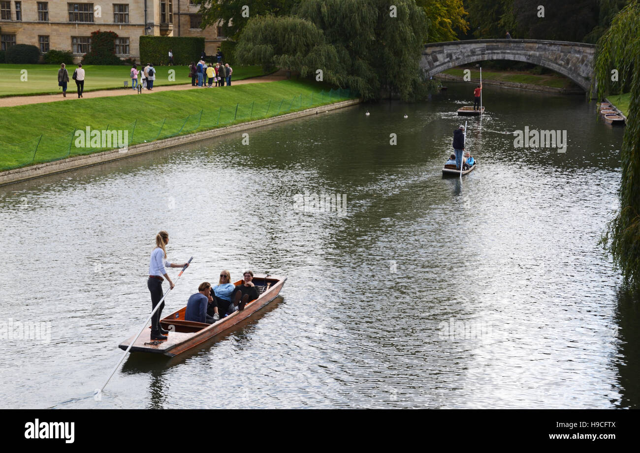
M 213 55 L 224 39 L 221 27 L 200 29 L 200 5 L 193 0 L 116 0 L 70 3 L 0 0 L 1 50 L 15 44 L 71 50 L 79 61 L 91 47 L 91 33 L 114 31 L 116 55 L 140 61 L 140 36 L 204 36 Z

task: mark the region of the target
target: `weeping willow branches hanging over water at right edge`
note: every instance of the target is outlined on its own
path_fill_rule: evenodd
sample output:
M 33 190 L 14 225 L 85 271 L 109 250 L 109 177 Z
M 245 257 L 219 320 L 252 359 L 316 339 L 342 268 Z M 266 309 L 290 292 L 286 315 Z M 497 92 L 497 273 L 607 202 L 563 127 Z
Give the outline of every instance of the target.
M 640 288 L 640 4 L 629 4 L 614 18 L 598 41 L 592 95 L 603 98 L 611 89 L 611 72 L 620 86 L 630 82 L 627 128 L 622 142 L 620 210 L 607 226 L 602 243 L 631 289 Z M 628 80 L 630 78 L 630 81 Z

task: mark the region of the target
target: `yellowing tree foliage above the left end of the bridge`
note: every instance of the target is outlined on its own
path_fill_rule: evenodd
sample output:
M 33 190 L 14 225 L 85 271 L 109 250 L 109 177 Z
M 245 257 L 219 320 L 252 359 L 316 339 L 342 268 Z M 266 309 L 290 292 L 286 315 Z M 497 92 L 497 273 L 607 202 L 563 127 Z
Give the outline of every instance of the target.
M 457 39 L 469 29 L 462 0 L 416 0 L 429 20 L 429 42 Z

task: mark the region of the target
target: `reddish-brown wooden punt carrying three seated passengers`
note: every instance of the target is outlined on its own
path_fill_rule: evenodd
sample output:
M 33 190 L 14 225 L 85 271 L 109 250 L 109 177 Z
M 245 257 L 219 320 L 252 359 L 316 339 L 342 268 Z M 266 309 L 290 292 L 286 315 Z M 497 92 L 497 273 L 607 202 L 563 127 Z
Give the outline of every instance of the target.
M 248 318 L 253 313 L 259 311 L 262 307 L 274 300 L 284 285 L 287 277 L 278 277 L 276 275 L 255 275 L 253 277 L 253 284 L 260 289 L 266 288 L 256 300 L 247 303 L 244 306 L 243 311 L 236 311 L 225 318 L 221 318 L 213 324 L 196 323 L 194 321 L 185 321 L 184 313 L 187 307 L 182 307 L 180 310 L 173 312 L 169 316 L 165 316 L 161 319 L 163 328 L 169 330 L 169 334 L 166 335 L 166 341 L 160 341 L 159 344 L 145 344 L 151 342 L 151 329 L 145 329 L 140 337 L 134 342 L 131 351 L 132 352 L 147 352 L 164 354 L 169 357 L 174 357 L 188 349 L 197 346 L 198 344 L 207 341 L 208 339 L 219 335 L 231 326 L 236 325 L 243 319 Z M 242 280 L 238 280 L 235 284 L 241 284 Z M 127 349 L 129 344 L 135 335 L 127 338 L 120 343 L 118 347 L 120 349 Z

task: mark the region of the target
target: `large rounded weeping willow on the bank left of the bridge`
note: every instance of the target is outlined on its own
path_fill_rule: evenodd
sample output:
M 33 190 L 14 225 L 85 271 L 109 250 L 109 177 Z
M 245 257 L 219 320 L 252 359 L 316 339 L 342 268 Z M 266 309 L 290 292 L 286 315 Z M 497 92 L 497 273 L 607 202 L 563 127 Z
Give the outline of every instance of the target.
M 408 100 L 426 95 L 420 70 L 427 19 L 413 0 L 301 0 L 287 16 L 255 16 L 236 47 L 241 64 L 276 65 L 302 77 Z

